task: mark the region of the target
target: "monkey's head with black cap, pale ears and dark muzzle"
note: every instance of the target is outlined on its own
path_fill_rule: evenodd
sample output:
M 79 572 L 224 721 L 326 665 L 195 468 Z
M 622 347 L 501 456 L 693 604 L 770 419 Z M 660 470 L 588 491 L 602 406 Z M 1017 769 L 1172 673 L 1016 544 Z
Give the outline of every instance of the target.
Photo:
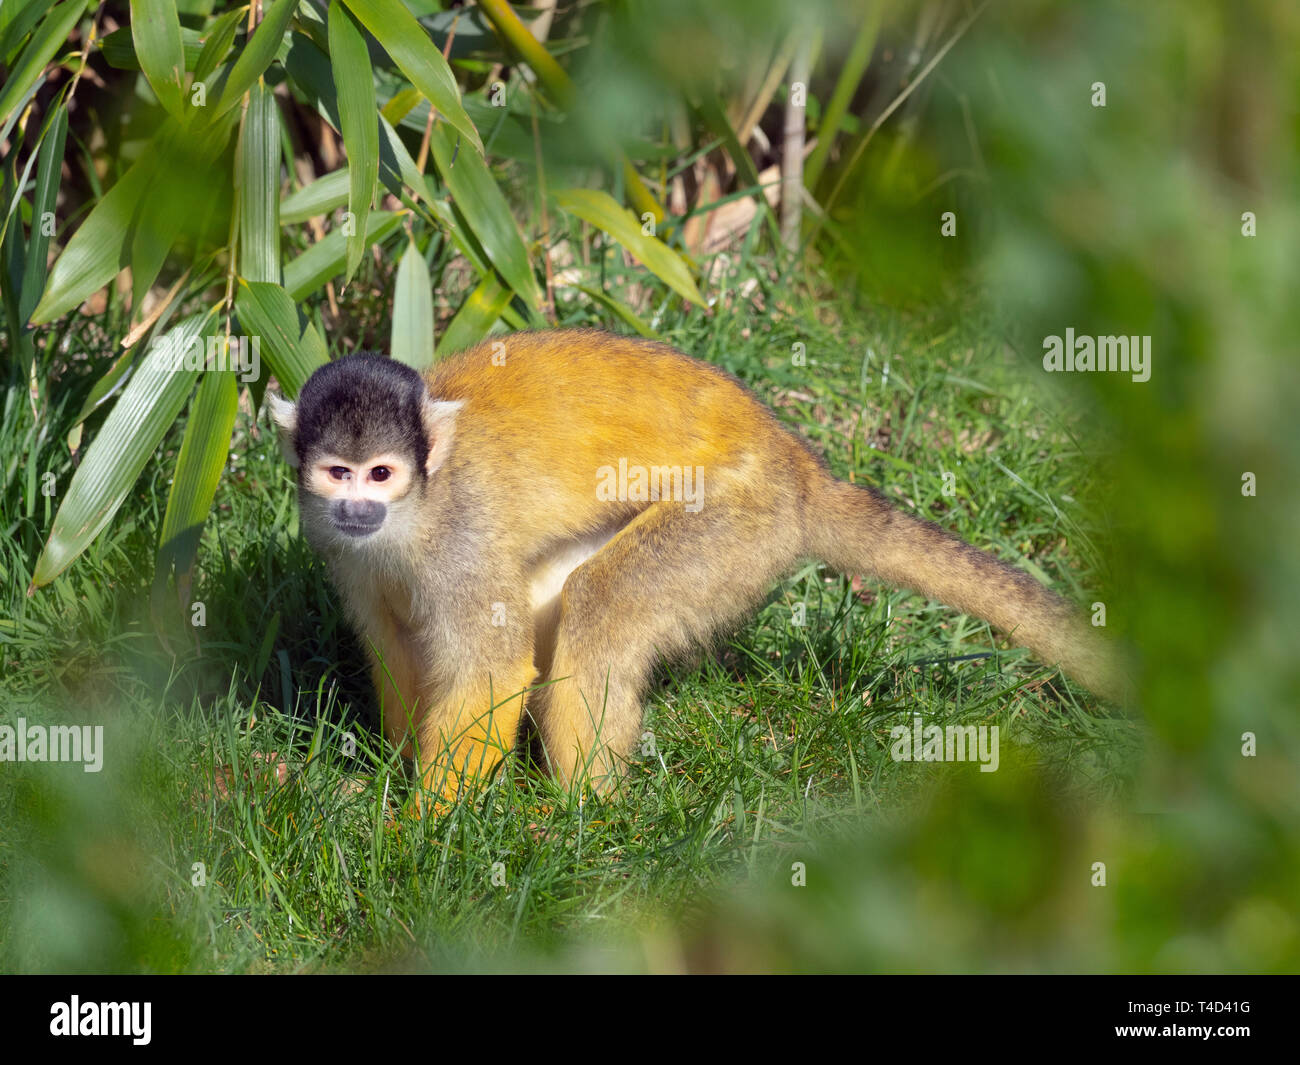
M 400 549 L 419 536 L 460 403 L 433 399 L 411 367 L 380 355 L 325 364 L 296 404 L 268 395 L 313 546 Z

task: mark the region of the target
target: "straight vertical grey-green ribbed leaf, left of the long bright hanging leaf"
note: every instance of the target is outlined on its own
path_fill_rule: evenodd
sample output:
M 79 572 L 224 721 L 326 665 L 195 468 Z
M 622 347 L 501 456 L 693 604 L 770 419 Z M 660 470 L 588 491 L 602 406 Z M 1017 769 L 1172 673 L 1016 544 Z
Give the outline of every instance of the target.
M 239 274 L 248 281 L 280 283 L 280 107 L 261 81 L 248 91 L 235 182 Z

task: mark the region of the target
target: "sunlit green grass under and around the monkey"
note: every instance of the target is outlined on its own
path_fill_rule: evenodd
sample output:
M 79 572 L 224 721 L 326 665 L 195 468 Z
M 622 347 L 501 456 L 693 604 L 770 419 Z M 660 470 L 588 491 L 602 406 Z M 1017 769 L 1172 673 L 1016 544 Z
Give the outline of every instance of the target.
M 715 313 L 670 309 L 658 328 L 750 384 L 838 476 L 1078 601 L 1108 598 L 1086 412 L 1043 389 L 974 299 L 885 312 L 759 280 L 760 303 L 736 278 Z M 560 317 L 595 324 L 563 299 Z M 298 534 L 269 424 L 247 411 L 199 555 L 203 627 L 151 594 L 161 463 L 27 598 L 57 502 L 30 473 L 66 484 L 65 423 L 90 381 L 78 354 L 100 359 L 113 334 L 78 320 L 39 442 L 21 382 L 0 438 L 0 723 L 107 733 L 98 775 L 0 767 L 0 970 L 1101 964 L 1034 930 L 1058 919 L 1041 908 L 1070 889 L 1062 862 L 1084 861 L 1072 811 L 1130 787 L 1138 727 L 914 596 L 806 566 L 715 654 L 663 670 L 615 800 L 568 804 L 512 759 L 425 821 L 400 813 L 411 783 L 372 728 L 360 649 Z M 994 653 L 948 661 L 978 651 Z M 893 762 L 889 728 L 913 714 L 998 724 L 1002 770 Z

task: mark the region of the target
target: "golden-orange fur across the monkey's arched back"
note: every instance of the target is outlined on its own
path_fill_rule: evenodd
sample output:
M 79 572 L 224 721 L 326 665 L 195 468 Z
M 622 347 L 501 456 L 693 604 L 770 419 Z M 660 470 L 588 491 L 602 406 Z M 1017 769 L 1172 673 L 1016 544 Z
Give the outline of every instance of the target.
M 763 494 L 793 488 L 816 460 L 725 372 L 672 347 L 594 329 L 516 333 L 486 341 L 428 375 L 437 399 L 462 401 L 450 464 L 488 458 L 488 503 L 537 499 L 552 484 L 566 524 L 589 528 L 610 515 L 597 499 L 598 471 L 702 469 L 708 486 Z M 537 441 L 545 427 L 546 449 Z M 546 498 L 545 495 L 542 498 Z M 630 505 L 629 510 L 638 508 Z M 555 514 L 520 515 L 554 520 Z

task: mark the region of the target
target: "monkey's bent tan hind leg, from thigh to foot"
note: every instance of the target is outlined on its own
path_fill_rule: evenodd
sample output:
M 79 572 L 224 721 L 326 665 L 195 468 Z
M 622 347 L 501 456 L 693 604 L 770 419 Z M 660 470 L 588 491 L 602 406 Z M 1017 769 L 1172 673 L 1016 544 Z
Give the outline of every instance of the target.
M 547 683 L 529 701 L 556 779 L 615 787 L 654 663 L 744 618 L 797 562 L 796 528 L 770 501 L 653 503 L 569 575 Z

